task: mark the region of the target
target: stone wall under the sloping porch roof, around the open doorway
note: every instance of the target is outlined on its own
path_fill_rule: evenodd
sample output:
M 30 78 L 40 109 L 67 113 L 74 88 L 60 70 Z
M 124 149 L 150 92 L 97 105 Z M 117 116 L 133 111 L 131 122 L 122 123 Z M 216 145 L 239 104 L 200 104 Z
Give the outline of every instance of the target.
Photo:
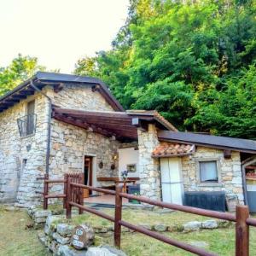
M 96 177 L 117 177 L 118 160 L 115 161 L 114 170 L 110 166 L 119 144 L 114 138 L 54 120 L 49 165 L 51 177 L 63 177 L 66 172 L 84 172 L 84 155 L 93 156 L 93 172 L 96 172 Z M 101 161 L 102 169 L 99 167 Z

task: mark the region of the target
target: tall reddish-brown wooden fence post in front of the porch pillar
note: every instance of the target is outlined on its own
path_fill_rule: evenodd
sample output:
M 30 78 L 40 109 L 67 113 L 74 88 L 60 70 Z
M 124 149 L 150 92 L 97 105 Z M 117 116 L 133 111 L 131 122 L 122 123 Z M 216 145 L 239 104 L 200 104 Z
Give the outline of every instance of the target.
M 114 212 L 114 246 L 121 247 L 121 225 L 119 221 L 122 219 L 122 197 L 119 195 L 122 192 L 122 186 L 119 183 L 115 184 L 115 212 Z

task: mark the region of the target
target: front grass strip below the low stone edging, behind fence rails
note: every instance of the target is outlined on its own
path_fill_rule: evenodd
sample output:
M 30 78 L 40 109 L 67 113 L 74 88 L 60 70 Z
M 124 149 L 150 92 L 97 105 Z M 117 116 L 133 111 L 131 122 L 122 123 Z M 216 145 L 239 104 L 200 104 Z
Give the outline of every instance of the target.
M 256 255 L 256 230 L 251 229 L 250 255 Z M 218 255 L 235 255 L 235 229 L 201 230 L 192 233 L 165 233 L 177 241 L 206 241 L 209 244 L 207 251 Z M 113 237 L 102 238 L 102 243 L 113 245 Z M 124 233 L 121 236 L 121 249 L 131 256 L 149 255 L 194 255 L 177 247 L 172 247 L 151 237 L 137 233 Z

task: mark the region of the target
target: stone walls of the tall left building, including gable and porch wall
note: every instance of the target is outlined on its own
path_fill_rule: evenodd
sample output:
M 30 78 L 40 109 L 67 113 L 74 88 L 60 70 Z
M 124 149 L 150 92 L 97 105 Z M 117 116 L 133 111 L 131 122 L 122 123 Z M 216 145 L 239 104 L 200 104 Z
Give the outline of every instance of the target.
M 58 93 L 51 86 L 44 87 L 55 106 L 79 110 L 113 111 L 105 98 L 90 85 L 64 84 Z M 20 137 L 17 119 L 26 115 L 27 102 L 35 100 L 37 128 L 35 134 Z M 29 207 L 40 201 L 42 196 L 36 191 L 43 190 L 43 183 L 37 180 L 45 173 L 49 102 L 40 93 L 28 96 L 26 100 L 0 113 L 0 202 L 16 201 L 18 205 Z M 117 154 L 119 144 L 114 138 L 85 131 L 51 119 L 51 153 L 49 176 L 62 177 L 65 172 L 82 172 L 84 155 L 95 157 L 97 176 L 117 176 L 116 168 L 110 171 L 113 154 Z M 99 161 L 103 168 L 98 168 Z M 55 186 L 61 190 L 61 186 Z

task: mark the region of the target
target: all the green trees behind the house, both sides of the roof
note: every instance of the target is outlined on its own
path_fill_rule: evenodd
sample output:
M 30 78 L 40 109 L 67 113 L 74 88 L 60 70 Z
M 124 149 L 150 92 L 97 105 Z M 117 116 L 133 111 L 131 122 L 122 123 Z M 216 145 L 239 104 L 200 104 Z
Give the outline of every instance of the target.
M 0 95 L 37 70 L 19 55 Z M 108 84 L 125 109 L 155 109 L 179 131 L 256 139 L 256 0 L 130 0 L 112 49 L 73 73 Z

